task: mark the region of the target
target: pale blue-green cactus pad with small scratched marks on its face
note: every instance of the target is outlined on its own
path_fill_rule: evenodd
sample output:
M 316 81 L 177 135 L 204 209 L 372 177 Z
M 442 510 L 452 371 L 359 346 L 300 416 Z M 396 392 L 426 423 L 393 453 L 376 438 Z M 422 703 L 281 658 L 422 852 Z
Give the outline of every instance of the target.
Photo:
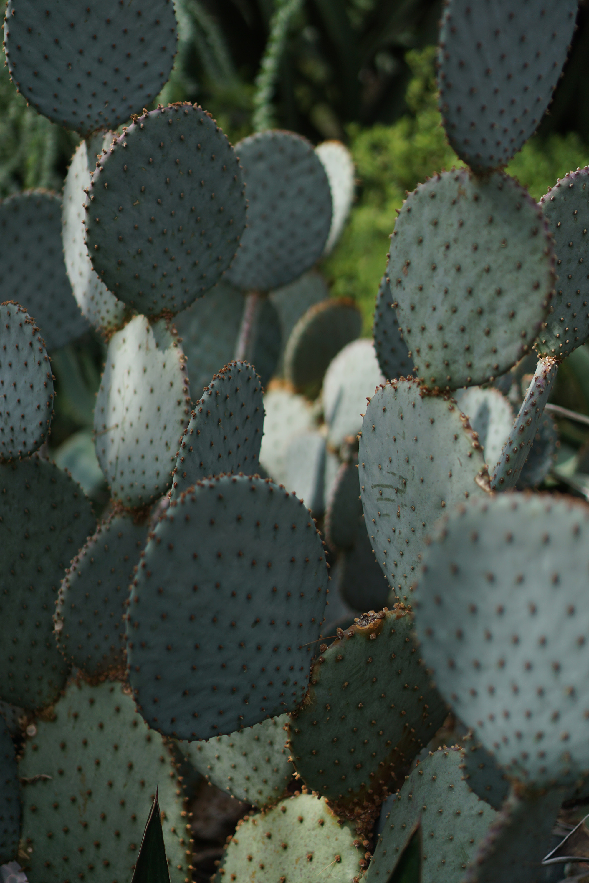
M 426 537 L 457 502 L 486 496 L 479 442 L 453 399 L 414 381 L 389 381 L 366 408 L 359 444 L 368 536 L 389 585 L 406 599 Z

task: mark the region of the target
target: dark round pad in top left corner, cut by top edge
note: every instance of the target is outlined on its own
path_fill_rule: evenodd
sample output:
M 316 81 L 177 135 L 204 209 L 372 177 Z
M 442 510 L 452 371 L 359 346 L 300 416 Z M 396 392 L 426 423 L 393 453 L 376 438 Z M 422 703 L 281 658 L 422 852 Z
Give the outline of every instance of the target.
M 176 53 L 171 0 L 100 7 L 9 0 L 4 46 L 12 81 L 54 123 L 81 135 L 116 128 L 153 102 Z

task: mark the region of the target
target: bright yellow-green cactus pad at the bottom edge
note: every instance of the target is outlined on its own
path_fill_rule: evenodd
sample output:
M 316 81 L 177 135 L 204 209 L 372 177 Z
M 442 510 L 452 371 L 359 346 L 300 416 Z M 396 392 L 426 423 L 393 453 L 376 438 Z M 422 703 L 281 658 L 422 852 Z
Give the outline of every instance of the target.
M 354 827 L 340 823 L 325 800 L 297 793 L 239 822 L 214 880 L 352 883 L 366 865 L 364 852 Z

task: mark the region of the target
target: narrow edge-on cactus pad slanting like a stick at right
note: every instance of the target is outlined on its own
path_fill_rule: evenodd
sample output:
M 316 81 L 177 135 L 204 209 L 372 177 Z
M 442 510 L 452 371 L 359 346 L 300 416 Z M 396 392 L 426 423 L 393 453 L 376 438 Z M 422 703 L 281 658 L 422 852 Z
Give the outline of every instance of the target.
M 494 490 L 505 491 L 517 485 L 536 438 L 557 371 L 555 358 L 540 358 L 524 402 L 503 445 L 501 457 L 494 467 L 489 464 L 491 487 Z

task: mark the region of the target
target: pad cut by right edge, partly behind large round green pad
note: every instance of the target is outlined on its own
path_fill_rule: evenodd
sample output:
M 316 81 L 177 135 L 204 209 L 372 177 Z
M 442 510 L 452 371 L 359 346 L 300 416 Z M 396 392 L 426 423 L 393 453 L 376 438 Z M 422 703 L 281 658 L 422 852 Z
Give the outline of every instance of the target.
M 555 238 L 556 294 L 536 344 L 542 355 L 564 358 L 589 335 L 587 228 L 589 166 L 570 171 L 540 200 Z M 585 260 L 584 260 L 585 259 Z

